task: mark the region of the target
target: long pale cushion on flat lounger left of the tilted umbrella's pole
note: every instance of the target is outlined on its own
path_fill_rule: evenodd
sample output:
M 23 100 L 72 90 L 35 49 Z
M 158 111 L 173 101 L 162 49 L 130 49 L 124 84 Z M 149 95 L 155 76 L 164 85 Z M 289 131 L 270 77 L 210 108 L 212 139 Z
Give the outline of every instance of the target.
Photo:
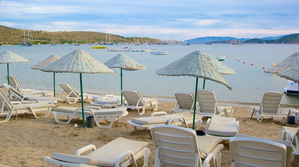
M 169 114 L 164 116 L 151 116 L 151 117 L 142 117 L 142 118 L 132 118 L 132 122 L 142 125 L 153 125 L 153 124 L 166 124 L 168 123 L 168 120 L 170 117 L 173 116 L 184 116 L 186 121 L 193 119 L 193 114 L 188 112 L 183 113 L 175 113 L 175 114 Z M 196 115 L 195 119 L 201 119 L 202 116 Z M 182 121 L 182 120 L 174 120 L 176 121 Z

